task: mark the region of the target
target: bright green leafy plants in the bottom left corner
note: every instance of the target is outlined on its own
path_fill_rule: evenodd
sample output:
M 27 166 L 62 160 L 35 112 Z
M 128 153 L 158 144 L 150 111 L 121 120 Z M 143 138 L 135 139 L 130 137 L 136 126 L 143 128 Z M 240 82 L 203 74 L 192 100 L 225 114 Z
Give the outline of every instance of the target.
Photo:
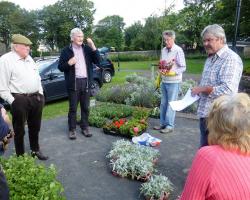
M 31 156 L 11 156 L 1 158 L 12 200 L 63 200 L 63 187 L 56 180 L 56 169 L 53 165 L 46 168 L 37 164 Z

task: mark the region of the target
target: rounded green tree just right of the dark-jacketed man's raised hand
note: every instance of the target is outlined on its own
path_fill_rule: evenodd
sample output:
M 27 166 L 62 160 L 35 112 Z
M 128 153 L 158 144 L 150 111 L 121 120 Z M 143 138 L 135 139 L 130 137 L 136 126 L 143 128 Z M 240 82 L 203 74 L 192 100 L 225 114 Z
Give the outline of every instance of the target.
M 100 20 L 94 30 L 97 46 L 115 47 L 122 50 L 124 46 L 125 23 L 118 15 L 107 16 Z

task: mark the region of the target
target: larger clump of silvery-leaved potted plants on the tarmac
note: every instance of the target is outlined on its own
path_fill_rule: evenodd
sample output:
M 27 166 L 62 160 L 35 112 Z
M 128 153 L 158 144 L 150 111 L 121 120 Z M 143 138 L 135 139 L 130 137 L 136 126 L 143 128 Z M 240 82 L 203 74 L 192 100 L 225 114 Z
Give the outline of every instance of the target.
M 125 140 L 118 140 L 113 143 L 107 157 L 110 158 L 114 175 L 147 181 L 155 171 L 154 160 L 159 157 L 159 151 Z

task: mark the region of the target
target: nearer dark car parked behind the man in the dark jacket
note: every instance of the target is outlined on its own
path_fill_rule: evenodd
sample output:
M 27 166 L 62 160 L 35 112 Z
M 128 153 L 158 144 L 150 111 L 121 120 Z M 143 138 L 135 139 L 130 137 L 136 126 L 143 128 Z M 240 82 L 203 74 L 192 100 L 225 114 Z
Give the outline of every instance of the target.
M 51 57 L 36 61 L 36 64 L 39 67 L 46 102 L 65 98 L 68 96 L 64 73 L 61 72 L 57 67 L 58 61 L 59 57 Z M 103 85 L 102 72 L 102 68 L 94 66 L 93 82 L 90 89 L 90 93 L 92 96 L 96 95 Z M 0 103 L 8 106 L 7 102 L 4 102 L 1 98 Z

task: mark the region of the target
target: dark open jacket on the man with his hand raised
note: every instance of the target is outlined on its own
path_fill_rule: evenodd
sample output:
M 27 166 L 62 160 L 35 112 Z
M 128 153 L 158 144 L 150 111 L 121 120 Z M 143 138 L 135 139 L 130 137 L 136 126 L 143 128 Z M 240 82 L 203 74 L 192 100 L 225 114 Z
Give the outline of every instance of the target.
M 88 86 L 90 86 L 93 80 L 93 63 L 99 65 L 100 54 L 98 50 L 93 51 L 88 45 L 82 45 L 82 48 L 87 66 Z M 72 57 L 74 57 L 74 52 L 70 44 L 62 50 L 58 64 L 58 69 L 64 72 L 67 90 L 76 90 L 75 66 L 68 64 Z

